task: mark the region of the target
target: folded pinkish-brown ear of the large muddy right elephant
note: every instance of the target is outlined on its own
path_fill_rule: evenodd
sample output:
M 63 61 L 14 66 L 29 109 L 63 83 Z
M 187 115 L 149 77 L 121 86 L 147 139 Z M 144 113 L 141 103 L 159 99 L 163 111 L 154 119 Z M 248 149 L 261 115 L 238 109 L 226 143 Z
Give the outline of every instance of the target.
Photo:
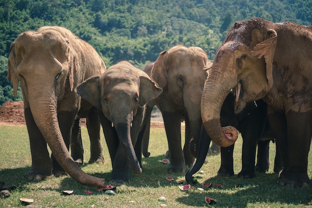
M 270 89 L 273 86 L 273 58 L 275 54 L 275 48 L 277 43 L 277 32 L 274 29 L 269 29 L 267 32 L 266 40 L 258 43 L 251 51 L 253 56 L 261 58 L 264 56 L 267 65 L 267 79 Z

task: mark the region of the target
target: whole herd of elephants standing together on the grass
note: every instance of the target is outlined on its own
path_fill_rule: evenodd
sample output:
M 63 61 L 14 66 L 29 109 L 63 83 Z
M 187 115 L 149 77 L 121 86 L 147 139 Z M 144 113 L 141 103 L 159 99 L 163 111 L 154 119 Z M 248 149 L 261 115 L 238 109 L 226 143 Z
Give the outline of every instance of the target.
M 104 163 L 102 126 L 112 161 L 111 180 L 128 181 L 130 169 L 140 175 L 142 153 L 149 156 L 146 146 L 156 105 L 168 141 L 168 170 L 186 172 L 188 183 L 202 167 L 211 141 L 221 147 L 218 175 L 234 175 L 239 131 L 240 177 L 268 171 L 273 140 L 279 184 L 310 186 L 311 54 L 311 26 L 261 18 L 235 22 L 213 62 L 199 47 L 176 45 L 160 52 L 144 70 L 128 61 L 107 69 L 90 44 L 63 27 L 22 32 L 11 44 L 7 77 L 14 95 L 18 83 L 23 95 L 32 159 L 26 178 L 38 181 L 68 174 L 83 185 L 104 186 L 104 179 L 77 165 L 83 162 L 80 118 L 87 121 L 89 163 Z

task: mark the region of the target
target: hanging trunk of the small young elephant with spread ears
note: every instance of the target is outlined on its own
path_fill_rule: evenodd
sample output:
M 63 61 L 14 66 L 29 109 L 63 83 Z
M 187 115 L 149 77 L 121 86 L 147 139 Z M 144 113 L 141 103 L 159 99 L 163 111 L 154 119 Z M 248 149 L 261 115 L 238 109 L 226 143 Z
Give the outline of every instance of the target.
M 122 148 L 124 149 L 125 155 L 129 161 L 130 167 L 132 172 L 135 175 L 140 175 L 142 173 L 142 169 L 140 166 L 140 163 L 138 161 L 138 158 L 136 156 L 132 140 L 131 140 L 131 134 L 130 134 L 130 123 L 126 122 L 115 122 L 114 126 L 116 128 L 120 144 Z

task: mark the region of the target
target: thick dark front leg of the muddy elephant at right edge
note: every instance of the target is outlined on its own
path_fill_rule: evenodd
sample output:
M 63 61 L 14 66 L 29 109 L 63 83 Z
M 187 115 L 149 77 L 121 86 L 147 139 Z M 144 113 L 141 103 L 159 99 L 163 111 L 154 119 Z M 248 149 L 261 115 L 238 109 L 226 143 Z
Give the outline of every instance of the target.
M 312 136 L 312 111 L 289 111 L 286 116 L 275 112 L 269 114 L 269 119 L 283 158 L 284 169 L 279 176 L 280 185 L 309 186 L 311 181 L 307 171 Z

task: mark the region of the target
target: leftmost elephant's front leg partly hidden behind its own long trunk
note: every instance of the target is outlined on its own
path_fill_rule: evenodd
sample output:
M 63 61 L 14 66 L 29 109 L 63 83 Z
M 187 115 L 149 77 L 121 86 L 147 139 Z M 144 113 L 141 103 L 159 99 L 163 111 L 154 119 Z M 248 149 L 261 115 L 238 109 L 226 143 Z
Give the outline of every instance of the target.
M 59 127 L 60 127 L 60 130 L 64 139 L 64 143 L 68 151 L 69 151 L 69 146 L 70 146 L 72 127 L 75 121 L 75 115 L 76 114 L 71 111 L 60 111 L 57 114 Z M 54 176 L 59 177 L 59 176 L 67 175 L 64 169 L 56 161 L 53 155 L 53 152 L 51 155 L 51 160 L 52 160 L 52 173 Z

